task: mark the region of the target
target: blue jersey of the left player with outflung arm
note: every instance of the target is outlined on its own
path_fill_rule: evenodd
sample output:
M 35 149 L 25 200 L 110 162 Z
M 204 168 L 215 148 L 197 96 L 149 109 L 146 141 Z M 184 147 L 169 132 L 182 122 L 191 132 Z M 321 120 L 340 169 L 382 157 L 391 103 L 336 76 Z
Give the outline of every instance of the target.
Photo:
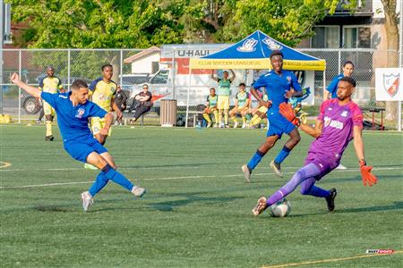
M 90 101 L 85 104 L 73 106 L 70 100 L 72 92 L 51 94 L 42 92 L 40 97 L 55 108 L 57 124 L 63 140 L 85 140 L 92 138 L 88 127 L 89 117 L 104 117 L 107 112 Z

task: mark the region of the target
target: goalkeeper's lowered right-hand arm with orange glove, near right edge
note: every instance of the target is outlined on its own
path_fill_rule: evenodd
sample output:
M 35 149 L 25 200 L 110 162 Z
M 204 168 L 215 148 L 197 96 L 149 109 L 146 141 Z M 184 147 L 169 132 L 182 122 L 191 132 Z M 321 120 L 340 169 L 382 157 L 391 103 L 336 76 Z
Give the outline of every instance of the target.
M 373 186 L 378 179 L 371 172 L 372 166 L 366 165 L 364 158 L 364 142 L 361 127 L 354 126 L 354 148 L 356 149 L 356 157 L 358 157 L 358 163 L 360 164 L 361 177 L 363 179 L 364 186 Z

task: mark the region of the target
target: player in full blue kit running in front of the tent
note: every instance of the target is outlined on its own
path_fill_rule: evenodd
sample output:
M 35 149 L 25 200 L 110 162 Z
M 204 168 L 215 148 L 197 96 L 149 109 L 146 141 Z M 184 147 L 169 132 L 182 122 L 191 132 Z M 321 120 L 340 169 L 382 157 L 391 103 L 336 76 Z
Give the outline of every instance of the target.
M 280 51 L 275 50 L 270 54 L 270 62 L 272 70 L 263 74 L 253 83 L 251 88 L 252 95 L 262 106 L 268 108 L 267 119 L 270 121 L 270 127 L 267 131 L 265 142 L 258 148 L 249 163 L 242 166 L 244 179 L 247 182 L 250 182 L 253 169 L 261 162 L 262 157 L 266 155 L 270 148 L 274 147 L 283 133 L 286 133 L 289 139 L 279 152 L 279 155 L 270 163 L 270 167 L 274 172 L 279 177 L 282 177 L 280 164 L 301 139 L 296 126 L 279 113 L 279 105 L 287 103 L 288 98 L 303 96 L 301 86 L 298 84 L 294 72 L 283 70 L 283 54 Z M 263 87 L 269 96 L 268 101 L 262 100 L 257 92 Z

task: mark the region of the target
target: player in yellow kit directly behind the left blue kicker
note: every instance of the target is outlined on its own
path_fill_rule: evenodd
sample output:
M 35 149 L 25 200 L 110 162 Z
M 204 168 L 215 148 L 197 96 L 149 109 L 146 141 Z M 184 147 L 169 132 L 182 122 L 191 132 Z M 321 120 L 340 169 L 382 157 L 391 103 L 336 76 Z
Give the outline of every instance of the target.
M 92 92 L 92 102 L 99 105 L 107 112 L 115 111 L 117 120 L 122 119 L 122 112 L 115 103 L 117 84 L 112 80 L 114 69 L 111 64 L 105 64 L 101 67 L 102 77 L 93 80 L 90 84 L 90 91 Z M 99 117 L 91 118 L 92 135 L 96 138 L 101 145 L 107 141 L 107 136 L 110 136 L 111 130 L 107 135 L 102 135 L 99 130 L 105 126 L 105 120 Z

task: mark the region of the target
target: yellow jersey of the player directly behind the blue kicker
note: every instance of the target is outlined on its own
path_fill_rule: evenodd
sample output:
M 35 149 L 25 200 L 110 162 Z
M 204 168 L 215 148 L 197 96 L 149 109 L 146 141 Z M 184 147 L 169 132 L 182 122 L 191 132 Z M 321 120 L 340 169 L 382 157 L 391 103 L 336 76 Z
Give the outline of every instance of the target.
M 116 95 L 116 88 L 117 84 L 112 80 L 106 82 L 101 77 L 97 80 L 93 80 L 90 84 L 92 102 L 109 112 L 110 101 Z

